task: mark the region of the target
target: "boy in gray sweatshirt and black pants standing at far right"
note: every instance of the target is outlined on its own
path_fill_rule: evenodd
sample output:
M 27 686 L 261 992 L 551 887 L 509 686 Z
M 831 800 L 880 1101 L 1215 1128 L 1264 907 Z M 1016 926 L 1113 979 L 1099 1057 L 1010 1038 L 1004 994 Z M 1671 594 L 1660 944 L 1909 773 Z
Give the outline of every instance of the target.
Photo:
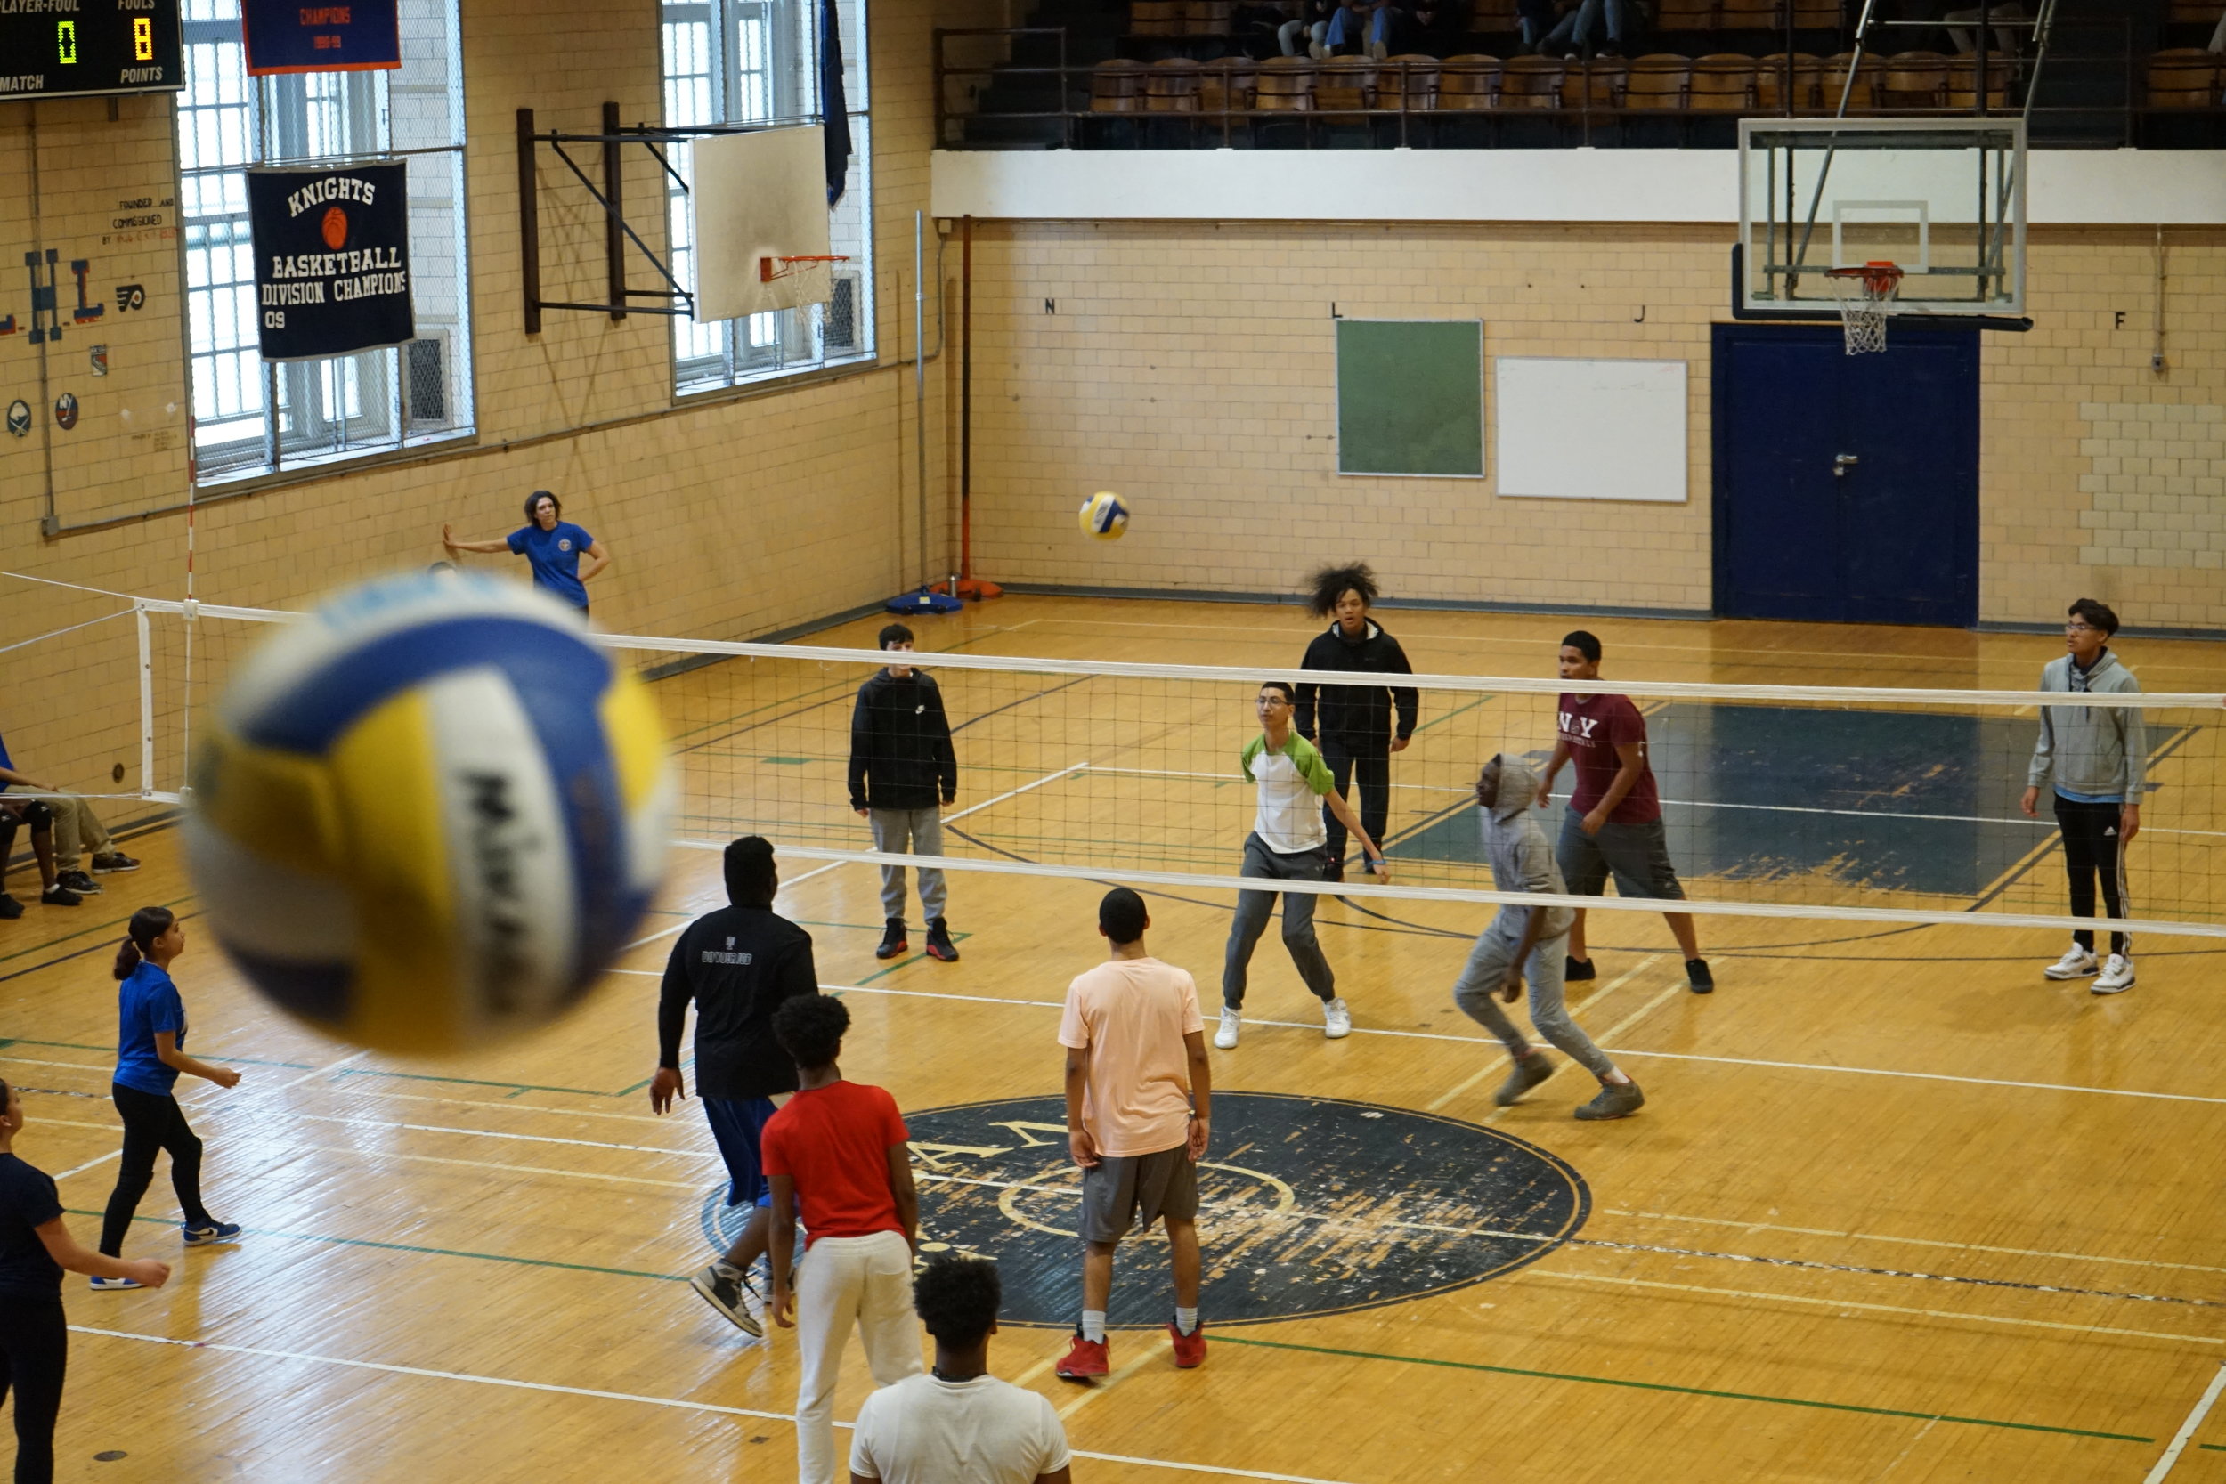
M 2041 690 L 2139 694 L 2110 654 L 2117 614 L 2095 598 L 2070 605 L 2064 659 L 2041 670 Z M 2110 917 L 2126 917 L 2126 845 L 2141 830 L 2141 783 L 2148 776 L 2148 732 L 2130 705 L 2043 705 L 2041 736 L 2026 768 L 2026 814 L 2039 819 L 2041 790 L 2052 785 L 2064 870 L 2070 877 L 2072 917 L 2095 917 L 2095 879 Z M 2095 961 L 2095 934 L 2079 930 L 2061 959 L 2041 970 L 2050 979 L 2088 979 L 2097 995 L 2133 988 L 2133 937 L 2110 934 L 2110 957 Z

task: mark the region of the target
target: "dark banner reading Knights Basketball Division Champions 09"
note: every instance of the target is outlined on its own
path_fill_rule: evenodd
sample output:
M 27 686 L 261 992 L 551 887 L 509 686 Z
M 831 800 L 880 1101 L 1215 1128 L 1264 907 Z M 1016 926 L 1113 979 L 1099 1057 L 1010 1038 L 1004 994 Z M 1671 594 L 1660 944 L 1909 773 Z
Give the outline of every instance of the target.
M 247 171 L 265 360 L 401 345 L 410 311 L 405 165 Z

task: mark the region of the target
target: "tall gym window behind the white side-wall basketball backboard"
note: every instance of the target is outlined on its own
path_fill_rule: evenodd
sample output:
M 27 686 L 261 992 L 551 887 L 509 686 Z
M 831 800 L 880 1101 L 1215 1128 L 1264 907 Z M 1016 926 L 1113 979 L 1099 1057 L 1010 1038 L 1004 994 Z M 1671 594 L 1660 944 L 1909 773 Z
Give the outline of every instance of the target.
M 710 392 L 873 360 L 873 122 L 866 109 L 866 0 L 835 0 L 841 31 L 850 178 L 828 211 L 835 296 L 824 305 L 701 325 L 672 320 L 672 385 Z M 819 0 L 670 0 L 661 7 L 666 125 L 815 125 Z M 692 180 L 688 145 L 672 169 Z M 695 289 L 688 196 L 666 189 L 672 276 Z

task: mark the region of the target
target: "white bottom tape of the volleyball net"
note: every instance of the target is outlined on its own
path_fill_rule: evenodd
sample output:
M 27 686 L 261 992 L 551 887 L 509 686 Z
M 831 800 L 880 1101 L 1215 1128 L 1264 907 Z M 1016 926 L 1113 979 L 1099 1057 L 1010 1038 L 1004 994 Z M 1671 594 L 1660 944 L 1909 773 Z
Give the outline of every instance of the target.
M 984 805 L 986 808 L 986 805 Z M 997 877 L 1040 877 L 1057 881 L 1122 881 L 1142 886 L 1184 886 L 1209 892 L 1311 892 L 1316 897 L 1382 897 L 1389 901 L 1436 901 L 1460 906 L 1516 906 L 1516 908 L 1576 908 L 1580 912 L 1690 912 L 1694 917 L 1779 917 L 1796 921 L 1832 923 L 1928 923 L 1941 928 L 2050 928 L 2104 930 L 2104 932 L 2153 932 L 2164 937 L 2215 937 L 2226 939 L 2226 923 L 2197 923 L 2184 919 L 2148 917 L 2070 917 L 2048 912 L 1974 912 L 1970 908 L 1825 908 L 1792 901 L 1707 901 L 1676 899 L 1665 908 L 1663 897 L 1569 897 L 1552 892 L 1496 892 L 1469 886 L 1378 886 L 1373 881 L 1284 881 L 1260 886 L 1264 877 L 1209 877 L 1189 870 L 1140 870 L 1133 865 L 1044 865 L 1040 861 L 984 861 L 964 854 L 899 854 L 895 850 L 833 850 L 828 845 L 790 845 L 772 841 L 781 854 L 806 861 L 855 861 L 859 865 L 913 865 L 919 870 L 982 870 Z M 674 839 L 681 850 L 726 850 L 728 841 Z M 659 934 L 666 937 L 666 934 Z M 641 939 L 652 941 L 652 939 Z

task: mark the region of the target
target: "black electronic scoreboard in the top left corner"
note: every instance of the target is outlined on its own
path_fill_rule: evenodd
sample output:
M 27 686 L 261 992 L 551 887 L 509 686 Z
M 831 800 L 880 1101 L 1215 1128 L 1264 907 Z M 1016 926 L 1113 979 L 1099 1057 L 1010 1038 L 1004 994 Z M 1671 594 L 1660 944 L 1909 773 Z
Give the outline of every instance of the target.
M 0 100 L 180 87 L 178 0 L 0 0 Z

